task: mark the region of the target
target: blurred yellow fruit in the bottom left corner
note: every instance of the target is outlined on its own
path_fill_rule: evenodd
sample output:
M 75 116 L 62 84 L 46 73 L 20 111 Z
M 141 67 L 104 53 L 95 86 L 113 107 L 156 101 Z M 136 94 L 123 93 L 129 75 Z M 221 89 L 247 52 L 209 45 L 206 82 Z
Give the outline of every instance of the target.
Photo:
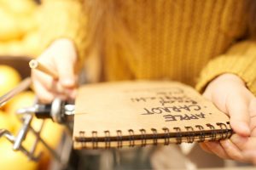
M 1 170 L 36 170 L 38 163 L 29 161 L 20 151 L 14 151 L 11 144 L 7 139 L 0 141 L 0 167 Z

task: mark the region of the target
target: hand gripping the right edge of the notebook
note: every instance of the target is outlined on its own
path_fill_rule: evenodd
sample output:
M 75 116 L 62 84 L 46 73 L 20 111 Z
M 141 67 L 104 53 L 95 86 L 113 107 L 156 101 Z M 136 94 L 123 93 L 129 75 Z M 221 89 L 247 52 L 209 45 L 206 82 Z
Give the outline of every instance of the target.
M 230 116 L 230 125 L 236 134 L 219 142 L 201 143 L 201 147 L 222 158 L 255 161 L 256 98 L 244 82 L 236 75 L 224 74 L 214 79 L 203 95 Z

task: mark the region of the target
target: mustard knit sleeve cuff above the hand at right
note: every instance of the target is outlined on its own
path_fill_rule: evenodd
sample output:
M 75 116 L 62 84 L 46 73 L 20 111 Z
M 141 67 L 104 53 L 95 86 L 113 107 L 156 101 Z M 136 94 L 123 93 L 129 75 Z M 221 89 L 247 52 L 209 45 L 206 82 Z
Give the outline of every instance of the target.
M 226 54 L 210 61 L 201 71 L 195 88 L 202 93 L 209 82 L 224 73 L 241 77 L 247 88 L 256 95 L 256 42 L 236 43 Z

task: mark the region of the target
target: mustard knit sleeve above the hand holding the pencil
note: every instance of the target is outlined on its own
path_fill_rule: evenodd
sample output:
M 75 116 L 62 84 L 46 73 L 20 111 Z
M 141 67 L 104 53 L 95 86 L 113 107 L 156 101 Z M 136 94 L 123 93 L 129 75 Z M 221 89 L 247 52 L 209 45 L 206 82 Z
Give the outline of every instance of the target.
M 41 52 L 56 39 L 68 38 L 74 42 L 79 59 L 84 59 L 87 17 L 82 1 L 43 0 L 38 16 Z

